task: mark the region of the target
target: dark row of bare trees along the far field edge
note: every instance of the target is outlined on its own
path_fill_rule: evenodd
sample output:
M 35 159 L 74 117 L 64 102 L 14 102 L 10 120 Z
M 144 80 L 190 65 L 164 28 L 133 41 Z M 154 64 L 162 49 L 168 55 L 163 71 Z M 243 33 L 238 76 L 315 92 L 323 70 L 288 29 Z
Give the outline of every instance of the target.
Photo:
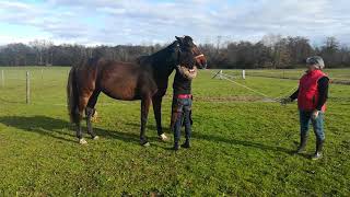
M 54 45 L 49 40 L 34 40 L 0 46 L 0 66 L 72 66 L 82 58 L 104 57 L 120 61 L 135 61 L 165 45 L 83 46 Z M 266 35 L 257 43 L 225 42 L 199 45 L 210 68 L 223 69 L 292 69 L 304 67 L 305 58 L 319 55 L 328 68 L 350 68 L 350 48 L 335 37 L 325 38 L 319 46 L 312 46 L 301 36 L 282 37 Z

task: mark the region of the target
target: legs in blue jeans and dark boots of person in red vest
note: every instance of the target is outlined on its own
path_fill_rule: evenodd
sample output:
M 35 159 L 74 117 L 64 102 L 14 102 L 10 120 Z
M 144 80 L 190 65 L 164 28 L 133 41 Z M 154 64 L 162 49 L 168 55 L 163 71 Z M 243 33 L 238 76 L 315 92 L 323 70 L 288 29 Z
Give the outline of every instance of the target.
M 314 134 L 316 136 L 316 153 L 322 152 L 323 143 L 325 141 L 324 113 L 319 112 L 316 119 L 312 118 L 312 114 L 313 112 L 300 111 L 301 144 L 299 147 L 299 152 L 303 151 L 306 146 L 310 124 L 313 125 Z

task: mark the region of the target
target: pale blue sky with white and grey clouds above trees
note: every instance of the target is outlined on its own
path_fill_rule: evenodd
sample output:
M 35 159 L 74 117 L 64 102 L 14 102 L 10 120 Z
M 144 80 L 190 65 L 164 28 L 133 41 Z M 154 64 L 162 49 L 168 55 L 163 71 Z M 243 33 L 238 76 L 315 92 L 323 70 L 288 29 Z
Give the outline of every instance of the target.
M 259 40 L 300 35 L 350 44 L 349 0 L 0 0 L 0 45 L 51 39 L 86 45 L 170 43 L 191 35 Z

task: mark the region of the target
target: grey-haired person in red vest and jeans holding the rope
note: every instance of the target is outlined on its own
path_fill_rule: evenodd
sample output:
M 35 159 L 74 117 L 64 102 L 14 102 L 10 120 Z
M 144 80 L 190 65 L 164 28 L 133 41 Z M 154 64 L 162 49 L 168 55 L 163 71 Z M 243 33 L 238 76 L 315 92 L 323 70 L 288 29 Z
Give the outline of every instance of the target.
M 322 71 L 325 68 L 322 57 L 310 57 L 306 59 L 306 65 L 307 71 L 300 79 L 299 89 L 281 102 L 282 104 L 287 104 L 298 99 L 301 129 L 300 146 L 296 153 L 302 153 L 305 150 L 308 126 L 312 123 L 316 135 L 316 151 L 312 159 L 318 160 L 322 158 L 322 149 L 325 142 L 324 113 L 328 99 L 329 79 Z

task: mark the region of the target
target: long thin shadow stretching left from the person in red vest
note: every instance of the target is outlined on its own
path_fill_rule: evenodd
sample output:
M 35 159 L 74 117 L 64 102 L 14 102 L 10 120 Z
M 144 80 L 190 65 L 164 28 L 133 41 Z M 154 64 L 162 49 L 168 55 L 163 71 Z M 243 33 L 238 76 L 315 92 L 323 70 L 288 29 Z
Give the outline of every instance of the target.
M 136 127 L 136 124 L 129 123 L 126 124 L 131 127 Z M 148 125 L 147 127 L 148 130 L 156 130 L 156 127 L 153 125 Z M 170 129 L 165 129 L 168 131 Z M 182 134 L 184 135 L 184 134 Z M 202 134 L 202 132 L 194 132 L 192 137 L 195 139 L 201 139 L 206 141 L 212 141 L 212 142 L 223 142 L 223 143 L 229 143 L 229 144 L 236 144 L 236 146 L 243 146 L 243 147 L 249 147 L 254 149 L 260 149 L 262 151 L 275 151 L 275 152 L 283 152 L 287 154 L 293 154 L 293 150 L 285 149 L 283 147 L 273 147 L 273 146 L 268 146 L 259 142 L 254 142 L 254 141 L 245 141 L 245 140 L 237 140 L 237 139 L 232 139 L 232 138 L 224 138 L 219 135 L 208 135 L 208 134 Z

